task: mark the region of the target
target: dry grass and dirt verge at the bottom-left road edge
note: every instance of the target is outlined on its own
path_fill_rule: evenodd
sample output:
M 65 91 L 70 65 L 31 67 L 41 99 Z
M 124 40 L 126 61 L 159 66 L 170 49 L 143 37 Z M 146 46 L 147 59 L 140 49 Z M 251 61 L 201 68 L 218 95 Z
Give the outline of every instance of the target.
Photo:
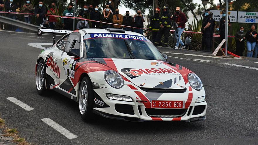
M 13 138 L 13 142 L 17 143 L 18 145 L 29 145 L 30 144 L 26 141 L 26 139 L 19 137 L 18 131 L 16 128 L 10 129 L 10 128 L 6 127 L 6 125 L 4 124 L 4 120 L 2 118 L 0 118 L 0 130 L 3 130 L 3 132 L 5 133 L 3 135 L 4 137 Z

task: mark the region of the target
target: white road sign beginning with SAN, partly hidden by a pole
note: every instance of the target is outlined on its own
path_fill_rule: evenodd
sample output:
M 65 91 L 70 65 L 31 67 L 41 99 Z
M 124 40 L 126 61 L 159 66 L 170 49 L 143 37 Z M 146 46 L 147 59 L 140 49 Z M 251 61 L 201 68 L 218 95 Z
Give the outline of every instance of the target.
M 213 19 L 215 22 L 219 22 L 222 18 L 222 10 L 210 10 L 213 13 Z M 237 11 L 228 11 L 228 18 L 230 18 L 230 23 L 237 22 Z

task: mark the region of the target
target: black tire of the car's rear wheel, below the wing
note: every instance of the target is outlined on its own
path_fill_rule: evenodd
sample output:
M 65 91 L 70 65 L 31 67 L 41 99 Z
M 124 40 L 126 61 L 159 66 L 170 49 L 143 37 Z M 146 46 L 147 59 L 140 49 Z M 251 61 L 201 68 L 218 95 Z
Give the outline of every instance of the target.
M 37 74 L 38 74 L 38 69 L 41 69 L 43 68 L 44 69 L 44 79 L 43 79 L 43 85 L 42 87 L 39 89 L 38 87 L 38 84 L 37 84 Z M 36 82 L 36 89 L 37 89 L 37 92 L 39 95 L 43 95 L 45 92 L 46 92 L 46 76 L 47 76 L 47 73 L 46 73 L 46 66 L 45 66 L 45 62 L 43 61 L 43 59 L 41 59 L 38 63 L 38 66 L 37 66 L 37 70 L 36 70 L 36 79 L 35 79 L 35 82 Z

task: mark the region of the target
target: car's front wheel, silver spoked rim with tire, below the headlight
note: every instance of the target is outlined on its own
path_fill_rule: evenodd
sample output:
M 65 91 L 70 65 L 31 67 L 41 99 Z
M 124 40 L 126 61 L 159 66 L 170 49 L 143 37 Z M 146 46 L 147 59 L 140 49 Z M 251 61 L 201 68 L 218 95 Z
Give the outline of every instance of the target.
M 94 93 L 89 77 L 85 76 L 80 83 L 79 90 L 79 110 L 81 117 L 85 121 L 94 119 L 93 110 Z

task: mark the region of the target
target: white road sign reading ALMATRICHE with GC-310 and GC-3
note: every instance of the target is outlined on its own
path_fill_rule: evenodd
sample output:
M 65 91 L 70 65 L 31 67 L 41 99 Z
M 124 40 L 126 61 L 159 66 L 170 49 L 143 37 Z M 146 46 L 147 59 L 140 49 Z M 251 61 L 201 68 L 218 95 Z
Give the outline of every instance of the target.
M 258 23 L 258 12 L 238 11 L 237 23 Z

